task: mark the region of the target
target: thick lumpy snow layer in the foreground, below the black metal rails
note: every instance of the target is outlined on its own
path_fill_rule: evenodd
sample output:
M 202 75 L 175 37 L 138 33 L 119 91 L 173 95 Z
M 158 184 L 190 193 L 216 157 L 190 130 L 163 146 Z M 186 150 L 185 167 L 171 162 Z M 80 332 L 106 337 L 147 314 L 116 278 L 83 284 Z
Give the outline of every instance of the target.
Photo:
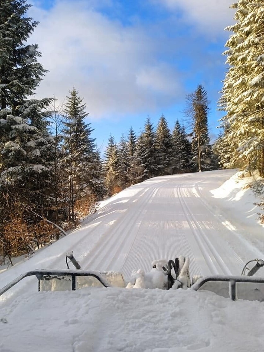
M 263 351 L 263 325 L 263 303 L 205 291 L 42 292 L 0 308 L 0 351 Z

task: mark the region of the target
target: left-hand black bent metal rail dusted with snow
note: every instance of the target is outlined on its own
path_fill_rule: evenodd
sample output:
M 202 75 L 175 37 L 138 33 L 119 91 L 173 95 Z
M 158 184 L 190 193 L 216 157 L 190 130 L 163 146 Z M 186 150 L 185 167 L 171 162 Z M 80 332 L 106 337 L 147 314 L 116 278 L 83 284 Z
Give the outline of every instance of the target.
M 44 276 L 70 276 L 71 277 L 71 290 L 76 290 L 76 276 L 92 276 L 95 277 L 104 287 L 111 287 L 111 284 L 98 272 L 96 271 L 86 271 L 86 270 L 50 270 L 50 269 L 37 269 L 25 272 L 24 274 L 18 276 L 16 279 L 11 281 L 5 287 L 0 290 L 0 296 L 6 291 L 10 290 L 14 285 L 23 280 L 25 277 L 36 276 L 38 281 Z

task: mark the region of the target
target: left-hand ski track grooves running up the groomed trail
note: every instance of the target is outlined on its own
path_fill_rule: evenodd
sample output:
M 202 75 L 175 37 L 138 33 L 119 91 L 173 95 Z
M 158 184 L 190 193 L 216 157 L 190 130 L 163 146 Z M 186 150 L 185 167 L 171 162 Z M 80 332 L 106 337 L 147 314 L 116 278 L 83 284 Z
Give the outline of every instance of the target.
M 92 257 L 89 257 L 86 262 L 85 268 L 92 266 L 93 268 L 98 268 L 97 270 L 109 270 L 110 265 L 112 265 L 120 256 L 120 248 L 122 248 L 128 240 L 130 230 L 135 226 L 136 220 L 141 214 L 141 210 L 144 209 L 145 203 L 152 197 L 156 187 L 155 184 L 144 190 L 144 193 L 141 195 L 140 206 L 138 203 L 135 203 L 134 207 L 137 207 L 137 211 L 134 212 L 133 216 L 130 218 L 130 225 L 127 224 L 127 215 L 131 214 L 131 212 L 128 212 L 128 214 L 122 218 L 118 226 L 114 223 L 114 228 L 110 233 L 108 232 L 106 234 L 108 237 L 107 240 L 104 241 L 103 244 L 99 241 Z M 145 197 L 145 194 L 149 190 L 151 190 L 150 194 Z M 105 268 L 103 268 L 102 265 L 104 265 Z

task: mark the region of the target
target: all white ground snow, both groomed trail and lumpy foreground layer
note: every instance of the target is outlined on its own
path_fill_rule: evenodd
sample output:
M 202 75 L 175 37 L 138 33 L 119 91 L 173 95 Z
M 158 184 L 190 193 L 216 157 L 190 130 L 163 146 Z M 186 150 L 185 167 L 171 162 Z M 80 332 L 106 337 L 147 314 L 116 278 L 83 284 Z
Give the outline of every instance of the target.
M 122 272 L 126 282 L 134 270 L 132 287 L 164 284 L 153 261 L 180 254 L 190 258 L 191 276 L 240 275 L 248 260 L 264 258 L 257 199 L 243 189 L 248 181 L 219 170 L 131 186 L 61 240 L 2 271 L 0 288 L 29 270 L 65 269 L 69 251 L 83 270 Z M 0 296 L 1 352 L 264 350 L 262 302 L 192 289 L 38 293 L 37 286 L 27 278 Z

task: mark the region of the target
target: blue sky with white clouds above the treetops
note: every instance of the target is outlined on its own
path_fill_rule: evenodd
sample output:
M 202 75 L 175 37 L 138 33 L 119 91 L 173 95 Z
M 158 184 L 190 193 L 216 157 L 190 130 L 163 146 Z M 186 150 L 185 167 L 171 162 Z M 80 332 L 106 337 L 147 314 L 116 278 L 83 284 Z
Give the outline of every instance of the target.
M 32 0 L 40 24 L 30 38 L 49 70 L 36 95 L 58 104 L 75 86 L 84 99 L 101 150 L 110 133 L 119 142 L 137 134 L 149 116 L 164 114 L 170 128 L 184 121 L 186 94 L 208 92 L 209 130 L 225 77 L 224 45 L 233 23 L 233 0 Z

